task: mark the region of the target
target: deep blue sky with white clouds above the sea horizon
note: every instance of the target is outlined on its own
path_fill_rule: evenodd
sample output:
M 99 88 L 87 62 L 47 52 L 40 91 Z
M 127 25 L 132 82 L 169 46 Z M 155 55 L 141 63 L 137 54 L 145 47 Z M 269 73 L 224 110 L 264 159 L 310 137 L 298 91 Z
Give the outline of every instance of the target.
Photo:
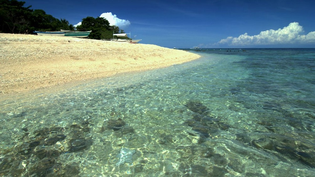
M 105 17 L 140 43 L 169 48 L 315 48 L 313 0 L 26 0 L 76 25 Z

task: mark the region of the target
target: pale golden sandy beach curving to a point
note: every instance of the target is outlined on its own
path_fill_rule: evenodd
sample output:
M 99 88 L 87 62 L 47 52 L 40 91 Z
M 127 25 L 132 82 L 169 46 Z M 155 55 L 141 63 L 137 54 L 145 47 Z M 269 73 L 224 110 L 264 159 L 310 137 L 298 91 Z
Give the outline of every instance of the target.
M 151 44 L 0 33 L 0 94 L 163 68 L 199 57 Z

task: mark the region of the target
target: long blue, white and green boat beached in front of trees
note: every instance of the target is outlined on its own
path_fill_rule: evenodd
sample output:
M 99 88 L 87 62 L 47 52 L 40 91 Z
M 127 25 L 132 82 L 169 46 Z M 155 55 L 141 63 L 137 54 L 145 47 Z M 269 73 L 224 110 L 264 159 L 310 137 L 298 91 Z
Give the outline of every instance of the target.
M 60 31 L 33 31 L 39 36 L 67 36 L 67 37 L 88 37 L 92 31 L 70 31 L 70 30 L 60 30 Z

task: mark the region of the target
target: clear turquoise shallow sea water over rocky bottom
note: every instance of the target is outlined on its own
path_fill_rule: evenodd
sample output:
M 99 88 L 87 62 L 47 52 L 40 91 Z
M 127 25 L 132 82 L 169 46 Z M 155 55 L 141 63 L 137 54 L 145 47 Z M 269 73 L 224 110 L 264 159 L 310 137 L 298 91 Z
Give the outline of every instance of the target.
M 315 50 L 182 65 L 0 103 L 0 175 L 313 176 Z

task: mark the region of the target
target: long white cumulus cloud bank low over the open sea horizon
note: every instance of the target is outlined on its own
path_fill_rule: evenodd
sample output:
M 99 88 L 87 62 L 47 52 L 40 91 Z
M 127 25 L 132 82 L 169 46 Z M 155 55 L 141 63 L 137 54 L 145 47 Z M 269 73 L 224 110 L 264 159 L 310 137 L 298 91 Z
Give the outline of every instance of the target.
M 303 32 L 303 27 L 299 23 L 293 22 L 283 29 L 261 31 L 260 34 L 254 36 L 245 33 L 238 37 L 227 37 L 217 42 L 216 45 L 253 46 L 315 43 L 315 31 L 301 35 Z

